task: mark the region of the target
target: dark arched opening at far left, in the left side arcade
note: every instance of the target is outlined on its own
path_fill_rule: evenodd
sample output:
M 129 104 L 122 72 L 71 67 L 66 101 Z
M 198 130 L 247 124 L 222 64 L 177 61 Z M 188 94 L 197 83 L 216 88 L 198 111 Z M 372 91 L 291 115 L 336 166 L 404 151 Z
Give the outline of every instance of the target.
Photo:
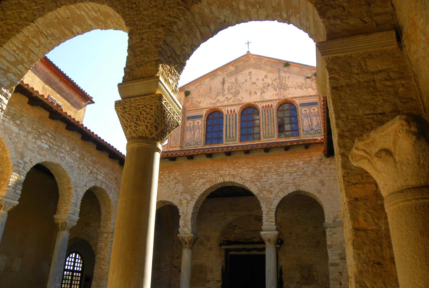
M 60 168 L 54 163 L 48 166 Z M 52 169 L 42 164 L 27 172 L 19 204 L 8 212 L 0 243 L 3 286 L 46 287 L 57 233 L 54 215 L 62 206 L 61 182 Z

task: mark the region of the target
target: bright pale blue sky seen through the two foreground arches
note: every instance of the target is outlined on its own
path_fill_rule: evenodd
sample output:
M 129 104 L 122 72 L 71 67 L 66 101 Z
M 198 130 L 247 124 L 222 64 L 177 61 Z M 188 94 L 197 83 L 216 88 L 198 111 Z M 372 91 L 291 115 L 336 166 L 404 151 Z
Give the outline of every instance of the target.
M 127 58 L 127 33 L 94 30 L 76 36 L 46 56 L 72 78 L 95 104 L 88 106 L 84 125 L 125 154 L 125 140 L 114 109 L 119 100 Z M 222 30 L 202 43 L 187 61 L 179 86 L 206 74 L 247 52 L 316 65 L 316 48 L 308 34 L 275 21 L 248 22 Z

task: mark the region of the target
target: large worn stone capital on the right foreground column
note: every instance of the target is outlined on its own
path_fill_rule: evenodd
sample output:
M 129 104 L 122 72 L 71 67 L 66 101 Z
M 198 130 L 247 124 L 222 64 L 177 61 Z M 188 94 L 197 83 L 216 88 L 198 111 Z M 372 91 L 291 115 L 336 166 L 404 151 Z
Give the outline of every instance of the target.
M 368 171 L 384 197 L 429 185 L 429 134 L 424 120 L 399 115 L 356 139 L 349 159 Z

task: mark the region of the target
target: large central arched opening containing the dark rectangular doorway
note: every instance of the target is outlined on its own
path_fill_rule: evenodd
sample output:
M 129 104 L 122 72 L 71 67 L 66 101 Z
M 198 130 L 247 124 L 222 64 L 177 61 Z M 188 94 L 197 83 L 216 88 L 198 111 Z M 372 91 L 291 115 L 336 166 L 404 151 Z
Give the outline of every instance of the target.
M 191 286 L 265 285 L 261 229 L 262 208 L 251 191 L 223 186 L 211 192 L 196 217 L 198 239 L 193 245 Z M 253 277 L 248 277 L 251 271 Z M 235 286 L 240 279 L 242 284 L 249 279 L 246 284 L 250 286 Z

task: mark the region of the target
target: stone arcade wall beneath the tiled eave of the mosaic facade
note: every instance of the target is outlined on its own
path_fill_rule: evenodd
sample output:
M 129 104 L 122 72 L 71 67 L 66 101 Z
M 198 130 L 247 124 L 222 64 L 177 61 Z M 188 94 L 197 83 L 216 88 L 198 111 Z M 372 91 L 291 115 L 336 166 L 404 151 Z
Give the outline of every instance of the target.
M 276 211 L 281 199 L 290 193 L 303 194 L 312 197 L 318 202 L 317 205 L 320 205 L 320 217 L 317 219 L 318 231 L 326 233 L 321 226 L 323 219 L 325 223 L 332 223 L 341 221 L 342 217 L 335 160 L 324 157 L 322 150 L 323 145 L 310 145 L 308 149 L 303 146 L 295 146 L 288 151 L 284 151 L 283 148 L 275 148 L 270 149 L 269 153 L 253 150 L 250 154 L 244 154 L 241 151 L 233 152 L 231 156 L 213 154 L 211 158 L 199 155 L 194 156 L 193 160 L 187 160 L 185 157 L 177 158 L 175 161 L 163 159 L 160 162 L 158 202 L 176 205 L 180 214 L 180 228 L 195 229 L 199 237 L 203 225 L 198 224 L 199 216 L 197 215 L 204 213 L 202 207 L 208 205 L 205 204 L 206 202 L 215 201 L 214 199 L 204 199 L 218 187 L 233 185 L 244 187 L 254 193 L 256 197 L 251 198 L 260 207 L 258 209 L 262 210 L 262 214 L 257 213 L 262 216 L 261 226 L 279 225 Z M 320 207 L 322 208 L 320 209 Z M 212 208 L 210 213 L 218 213 L 218 211 Z M 230 217 L 227 212 L 222 215 Z M 246 225 L 246 223 L 242 224 Z M 235 227 L 238 229 L 239 225 Z M 338 229 L 341 230 L 341 227 Z M 259 237 L 259 235 L 257 236 Z M 329 236 L 332 235 L 329 234 Z M 212 238 L 213 236 L 210 237 L 210 239 Z M 220 243 L 220 238 L 213 241 L 204 247 L 218 249 L 215 247 Z M 320 240 L 320 247 L 326 247 L 326 236 L 323 243 L 325 244 L 322 244 Z M 332 263 L 332 267 L 336 267 L 334 270 L 329 267 L 331 288 L 347 287 L 344 236 L 338 232 L 335 237 L 329 238 L 327 247 L 328 254 L 324 252 L 324 257 L 332 255 L 329 263 Z M 195 250 L 194 253 L 196 253 Z M 223 256 L 219 254 L 212 257 L 214 261 L 223 259 Z M 320 261 L 323 260 L 316 262 Z M 221 269 L 220 264 L 216 265 L 218 270 Z M 319 271 L 327 269 L 326 265 L 323 267 L 317 269 Z M 221 279 L 219 271 L 217 272 L 218 280 Z M 334 280 L 335 282 L 332 282 Z M 326 284 L 326 278 L 321 277 L 320 281 L 321 284 Z

